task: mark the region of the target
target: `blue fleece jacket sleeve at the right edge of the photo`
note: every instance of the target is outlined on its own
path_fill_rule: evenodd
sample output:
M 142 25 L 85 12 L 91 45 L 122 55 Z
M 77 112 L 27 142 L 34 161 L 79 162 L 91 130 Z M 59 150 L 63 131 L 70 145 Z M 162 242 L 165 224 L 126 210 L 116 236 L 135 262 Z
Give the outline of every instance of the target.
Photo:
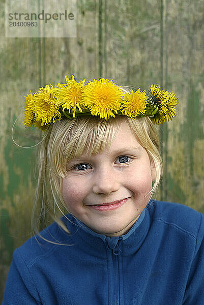
M 204 216 L 200 213 L 200 226 L 195 253 L 183 299 L 183 305 L 204 304 Z

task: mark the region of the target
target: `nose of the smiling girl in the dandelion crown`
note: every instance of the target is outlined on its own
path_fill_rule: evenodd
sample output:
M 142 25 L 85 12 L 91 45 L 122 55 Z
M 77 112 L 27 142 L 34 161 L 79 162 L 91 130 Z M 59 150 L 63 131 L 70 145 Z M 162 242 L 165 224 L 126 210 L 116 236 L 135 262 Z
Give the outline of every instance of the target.
M 120 187 L 119 180 L 115 176 L 115 173 L 110 170 L 103 170 L 96 174 L 94 177 L 93 192 L 95 194 L 105 194 L 108 195 L 111 192 L 118 191 Z

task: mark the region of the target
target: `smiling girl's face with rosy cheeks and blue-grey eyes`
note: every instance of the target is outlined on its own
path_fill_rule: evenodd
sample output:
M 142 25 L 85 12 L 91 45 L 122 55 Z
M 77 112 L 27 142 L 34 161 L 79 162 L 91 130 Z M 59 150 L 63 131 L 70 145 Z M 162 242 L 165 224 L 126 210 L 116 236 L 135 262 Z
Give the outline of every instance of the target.
M 68 210 L 106 236 L 121 236 L 130 230 L 148 204 L 155 180 L 154 164 L 127 123 L 122 124 L 109 149 L 72 160 L 67 171 L 62 195 Z M 113 201 L 122 202 L 108 207 Z M 99 204 L 104 206 L 97 207 Z

